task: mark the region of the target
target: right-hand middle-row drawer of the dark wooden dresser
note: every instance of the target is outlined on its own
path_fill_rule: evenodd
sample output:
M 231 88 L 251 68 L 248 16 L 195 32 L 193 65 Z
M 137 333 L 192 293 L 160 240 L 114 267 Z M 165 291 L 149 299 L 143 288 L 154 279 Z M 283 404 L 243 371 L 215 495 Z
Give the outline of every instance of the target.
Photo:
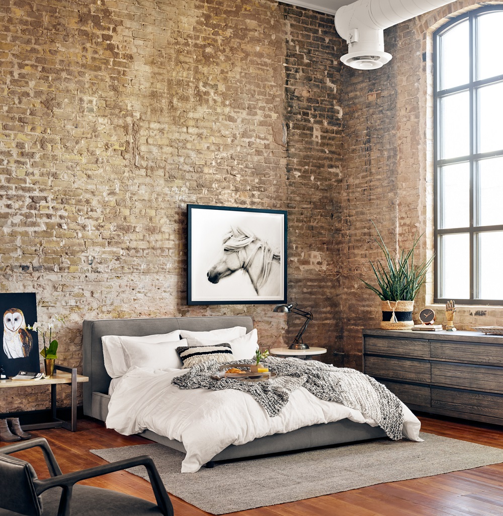
M 503 368 L 432 362 L 431 383 L 460 389 L 501 392 Z

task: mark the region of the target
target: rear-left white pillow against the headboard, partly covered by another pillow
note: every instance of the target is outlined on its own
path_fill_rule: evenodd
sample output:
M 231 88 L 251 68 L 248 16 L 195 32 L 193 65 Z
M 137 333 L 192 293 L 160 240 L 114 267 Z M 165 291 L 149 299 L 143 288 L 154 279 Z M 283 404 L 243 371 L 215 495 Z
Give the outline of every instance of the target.
M 104 335 L 102 337 L 102 343 L 105 369 L 111 378 L 119 378 L 126 374 L 128 367 L 124 360 L 124 349 L 127 348 L 130 343 L 142 342 L 158 344 L 172 341 L 177 341 L 178 345 L 180 344 L 180 330 L 158 335 L 145 335 L 143 337 Z

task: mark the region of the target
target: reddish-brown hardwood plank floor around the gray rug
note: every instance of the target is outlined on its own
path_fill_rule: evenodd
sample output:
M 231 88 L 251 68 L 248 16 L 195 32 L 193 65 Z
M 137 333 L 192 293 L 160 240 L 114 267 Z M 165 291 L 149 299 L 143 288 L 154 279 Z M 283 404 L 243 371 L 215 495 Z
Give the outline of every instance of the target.
M 503 448 L 503 427 L 432 417 L 420 417 L 420 419 L 425 432 Z M 114 430 L 105 428 L 102 423 L 90 420 L 79 420 L 78 431 L 75 433 L 63 429 L 38 430 L 32 433 L 36 437 L 45 437 L 49 441 L 63 473 L 105 462 L 91 454 L 90 449 L 149 442 L 137 436 L 121 436 Z M 27 450 L 17 456 L 29 460 L 35 466 L 40 478 L 48 476 L 40 451 Z M 363 464 L 362 467 L 364 467 Z M 390 464 L 390 467 L 393 465 Z M 337 474 L 337 465 L 334 465 L 334 474 Z M 127 472 L 113 473 L 82 483 L 106 487 L 154 501 L 149 483 Z M 171 499 L 176 516 L 208 514 L 175 496 L 171 496 Z M 380 484 L 231 514 L 233 516 L 334 516 L 336 514 L 341 516 L 500 516 L 503 514 L 503 464 Z

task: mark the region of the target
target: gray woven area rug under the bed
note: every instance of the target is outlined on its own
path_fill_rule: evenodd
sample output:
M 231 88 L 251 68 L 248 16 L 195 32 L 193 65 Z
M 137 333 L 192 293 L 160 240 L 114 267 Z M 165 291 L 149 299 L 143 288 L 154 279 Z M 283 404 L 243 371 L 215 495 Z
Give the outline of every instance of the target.
M 211 514 L 294 502 L 378 483 L 503 462 L 503 449 L 421 433 L 424 442 L 381 439 L 202 467 L 180 473 L 184 454 L 162 444 L 90 450 L 108 462 L 150 455 L 166 490 Z M 131 473 L 148 479 L 142 467 Z

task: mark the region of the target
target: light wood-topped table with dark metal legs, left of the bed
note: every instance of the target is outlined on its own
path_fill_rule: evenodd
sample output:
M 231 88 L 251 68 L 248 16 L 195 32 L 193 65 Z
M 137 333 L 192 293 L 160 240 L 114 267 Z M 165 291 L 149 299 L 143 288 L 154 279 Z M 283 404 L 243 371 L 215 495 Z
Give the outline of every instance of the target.
M 77 430 L 77 383 L 87 382 L 87 376 L 77 375 L 77 369 L 74 367 L 65 367 L 56 364 L 54 366 L 54 376 L 52 378 L 42 378 L 42 380 L 0 380 L 0 389 L 12 389 L 16 387 L 27 387 L 37 385 L 51 385 L 51 414 L 52 421 L 47 423 L 35 423 L 23 425 L 24 430 L 40 430 L 42 428 L 64 428 L 75 432 Z M 72 389 L 72 417 L 71 421 L 63 421 L 56 417 L 56 386 L 58 383 L 66 383 L 71 385 Z

